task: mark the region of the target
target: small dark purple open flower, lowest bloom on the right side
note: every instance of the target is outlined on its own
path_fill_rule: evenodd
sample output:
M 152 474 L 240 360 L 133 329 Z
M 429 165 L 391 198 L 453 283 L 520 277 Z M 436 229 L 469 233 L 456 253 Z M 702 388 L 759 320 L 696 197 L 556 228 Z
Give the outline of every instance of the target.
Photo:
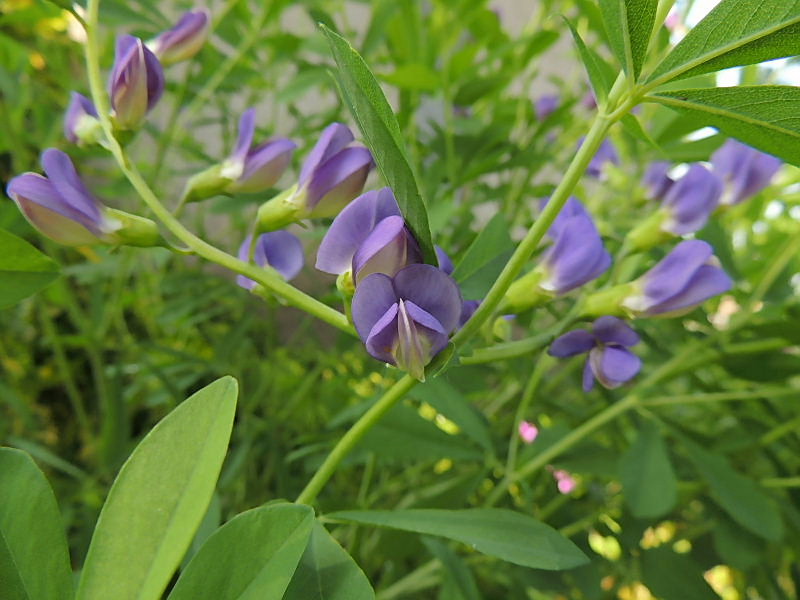
M 600 317 L 592 331 L 576 329 L 557 338 L 547 351 L 550 356 L 566 358 L 589 353 L 583 368 L 583 390 L 588 392 L 597 379 L 613 389 L 630 381 L 642 368 L 641 359 L 628 348 L 639 343 L 639 336 L 616 317 Z

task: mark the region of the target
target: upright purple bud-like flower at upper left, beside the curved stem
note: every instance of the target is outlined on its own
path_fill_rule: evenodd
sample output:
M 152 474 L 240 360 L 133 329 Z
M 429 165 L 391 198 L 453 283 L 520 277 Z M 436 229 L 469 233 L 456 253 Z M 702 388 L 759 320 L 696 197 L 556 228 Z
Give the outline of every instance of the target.
M 156 55 L 132 35 L 117 40 L 109 82 L 114 120 L 121 129 L 134 129 L 164 92 L 164 71 Z

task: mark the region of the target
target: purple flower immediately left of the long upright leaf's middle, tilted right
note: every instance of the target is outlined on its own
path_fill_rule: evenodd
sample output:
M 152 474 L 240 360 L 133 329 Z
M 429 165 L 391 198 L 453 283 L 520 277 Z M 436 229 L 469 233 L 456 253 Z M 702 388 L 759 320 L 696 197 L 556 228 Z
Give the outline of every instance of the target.
M 325 128 L 303 163 L 299 192 L 311 217 L 333 217 L 361 193 L 374 162 L 363 146 L 351 146 L 353 134 L 341 123 Z

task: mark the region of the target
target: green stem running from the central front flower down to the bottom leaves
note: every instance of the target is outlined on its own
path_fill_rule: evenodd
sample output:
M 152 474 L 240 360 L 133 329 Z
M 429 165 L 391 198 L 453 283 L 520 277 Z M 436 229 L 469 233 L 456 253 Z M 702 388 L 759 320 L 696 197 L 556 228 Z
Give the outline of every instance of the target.
M 413 388 L 418 381 L 410 375 L 405 375 L 400 381 L 390 387 L 386 393 L 378 400 L 372 407 L 362 415 L 362 417 L 355 422 L 355 424 L 347 430 L 342 438 L 338 441 L 336 446 L 331 450 L 331 453 L 325 459 L 325 462 L 317 469 L 311 481 L 308 482 L 305 489 L 300 492 L 300 495 L 295 500 L 298 504 L 311 504 L 322 491 L 322 488 L 328 480 L 336 472 L 336 469 L 341 464 L 342 460 L 350 453 L 350 451 L 361 441 L 361 438 L 372 429 L 381 417 L 389 411 L 411 388 Z

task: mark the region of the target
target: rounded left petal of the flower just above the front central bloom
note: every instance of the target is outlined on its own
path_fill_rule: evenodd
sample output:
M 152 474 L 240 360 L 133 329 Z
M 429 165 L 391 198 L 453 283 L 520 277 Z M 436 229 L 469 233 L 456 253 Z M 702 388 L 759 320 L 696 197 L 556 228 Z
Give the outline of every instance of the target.
M 317 251 L 316 267 L 340 275 L 353 262 L 353 255 L 375 225 L 389 216 L 400 216 L 400 208 L 388 187 L 362 194 L 333 220 Z

